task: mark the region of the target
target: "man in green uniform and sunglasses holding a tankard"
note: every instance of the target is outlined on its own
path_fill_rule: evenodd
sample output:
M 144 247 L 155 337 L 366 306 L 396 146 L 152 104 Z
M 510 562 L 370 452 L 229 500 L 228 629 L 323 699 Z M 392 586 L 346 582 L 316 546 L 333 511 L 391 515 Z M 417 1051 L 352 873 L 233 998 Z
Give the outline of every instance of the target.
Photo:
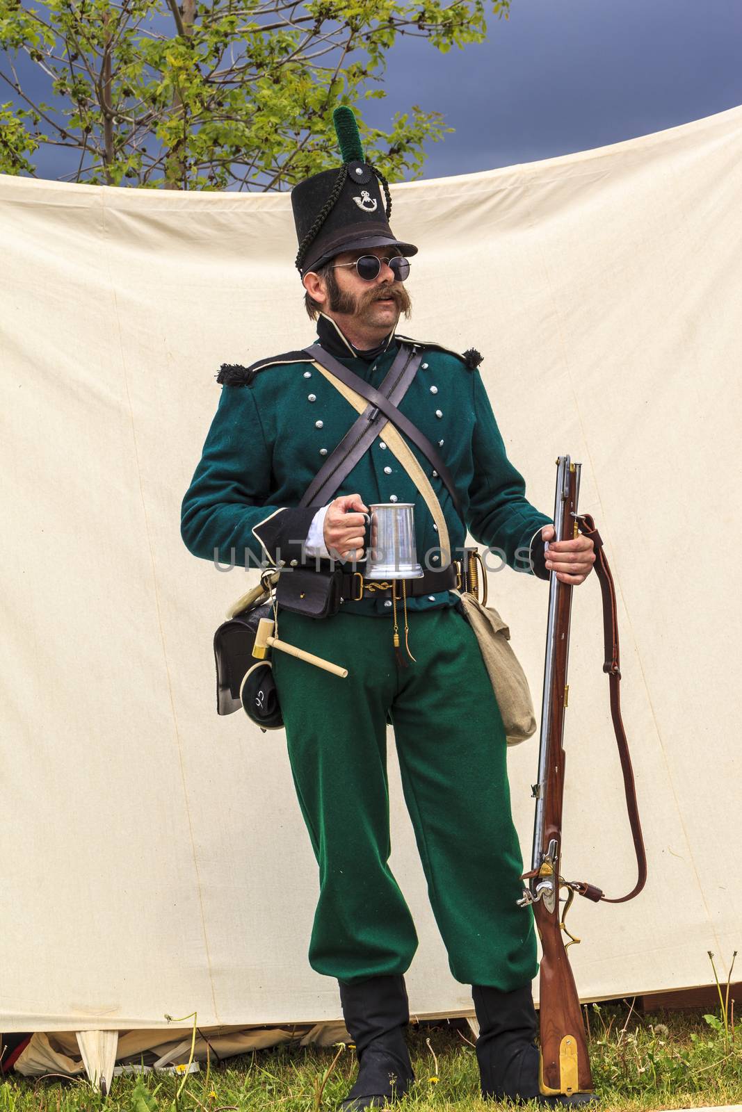
M 343 166 L 293 192 L 297 267 L 321 351 L 379 389 L 412 344 L 395 329 L 409 309 L 403 281 L 417 248 L 394 236 L 386 182 L 364 161 L 357 132 L 348 140 L 340 121 L 338 133 Z M 441 503 L 453 555 L 468 528 L 515 570 L 582 583 L 594 560 L 592 542 L 545 544 L 553 526 L 527 502 L 506 457 L 477 354 L 415 347 L 422 361 L 398 408 L 445 460 L 447 481 L 410 446 Z M 338 980 L 359 1059 L 344 1110 L 389 1103 L 413 1080 L 404 974 L 417 935 L 388 865 L 387 723 L 451 970 L 472 985 L 483 1094 L 586 1103 L 586 1094 L 540 1094 L 531 993 L 536 940 L 531 910 L 516 904 L 523 862 L 505 732 L 425 500 L 376 437 L 333 497 L 303 502 L 358 417 L 311 354 L 224 366 L 219 381 L 219 406 L 182 504 L 191 553 L 275 565 L 290 582 L 291 569 L 321 568 L 330 556 L 363 560 L 364 513 L 372 503 L 399 502 L 415 504 L 417 553 L 425 554 L 424 578 L 406 585 L 402 655 L 392 637 L 397 604 L 386 585 L 348 574 L 338 612 L 325 618 L 279 608 L 283 639 L 349 672 L 339 679 L 283 653 L 273 659 L 298 802 L 319 865 L 309 961 Z M 388 385 L 382 393 L 388 396 Z

